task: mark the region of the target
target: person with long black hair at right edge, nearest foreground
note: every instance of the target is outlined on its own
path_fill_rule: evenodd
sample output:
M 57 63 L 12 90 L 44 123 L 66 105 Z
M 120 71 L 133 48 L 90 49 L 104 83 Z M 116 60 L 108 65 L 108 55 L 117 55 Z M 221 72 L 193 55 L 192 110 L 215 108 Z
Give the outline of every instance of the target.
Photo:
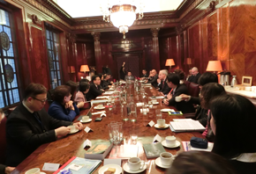
M 210 110 L 215 134 L 212 152 L 229 160 L 237 174 L 255 174 L 255 106 L 245 97 L 226 94 L 215 98 Z

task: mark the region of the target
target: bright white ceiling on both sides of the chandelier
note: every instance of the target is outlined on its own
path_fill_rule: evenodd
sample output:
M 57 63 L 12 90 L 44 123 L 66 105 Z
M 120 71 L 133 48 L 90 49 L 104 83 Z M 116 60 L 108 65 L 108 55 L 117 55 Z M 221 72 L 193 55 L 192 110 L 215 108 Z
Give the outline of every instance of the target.
M 53 0 L 72 18 L 102 16 L 101 0 Z M 107 0 L 105 0 L 107 1 Z M 174 11 L 183 0 L 145 0 L 144 12 Z

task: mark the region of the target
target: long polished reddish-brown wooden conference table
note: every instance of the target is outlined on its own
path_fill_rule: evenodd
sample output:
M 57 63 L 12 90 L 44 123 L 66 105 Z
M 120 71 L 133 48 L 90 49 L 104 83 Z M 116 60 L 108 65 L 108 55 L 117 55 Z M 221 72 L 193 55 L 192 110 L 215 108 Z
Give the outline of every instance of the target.
M 133 90 L 134 91 L 134 90 Z M 147 93 L 147 98 L 151 96 L 157 96 L 158 91 L 154 89 L 154 87 L 145 87 L 145 91 Z M 159 101 L 158 105 L 154 105 L 154 108 L 150 110 L 150 114 L 148 114 L 147 120 L 148 122 L 150 120 L 153 120 L 154 123 L 156 123 L 154 110 L 155 109 L 163 109 L 163 108 L 171 108 L 175 109 L 172 106 L 166 106 L 162 105 L 162 99 L 157 99 Z M 134 94 L 134 102 L 137 103 L 138 96 Z M 92 105 L 94 107 L 97 104 Z M 84 141 L 87 139 L 90 141 L 96 141 L 96 140 L 109 140 L 109 130 L 108 130 L 108 124 L 111 121 L 123 121 L 123 118 L 120 116 L 120 110 L 121 105 L 117 105 L 117 113 L 110 114 L 109 109 L 106 108 L 106 114 L 107 117 L 103 117 L 102 121 L 94 121 L 95 118 L 100 117 L 100 114 L 96 114 L 92 116 L 92 121 L 89 123 L 83 124 L 85 127 L 90 127 L 93 129 L 93 132 L 87 133 L 84 130 L 80 130 L 76 134 L 68 134 L 66 137 L 59 139 L 57 141 L 53 141 L 47 144 L 41 145 L 38 149 L 34 151 L 33 154 L 28 156 L 22 163 L 17 166 L 16 170 L 14 170 L 12 173 L 25 173 L 26 170 L 32 169 L 32 168 L 40 168 L 42 169 L 42 166 L 44 163 L 60 163 L 63 165 L 66 163 L 72 156 L 79 156 L 84 157 L 86 153 L 86 149 L 83 147 Z M 141 107 L 139 107 L 141 108 Z M 137 109 L 137 121 L 124 121 L 124 139 L 125 141 L 129 141 L 132 139 L 132 135 L 137 135 L 137 144 L 139 145 L 139 153 L 138 156 L 140 159 L 144 160 L 147 163 L 147 170 L 144 170 L 142 173 L 164 173 L 166 170 L 158 167 L 154 161 L 156 158 L 147 159 L 147 156 L 145 155 L 144 149 L 142 147 L 142 143 L 150 143 L 153 141 L 154 136 L 156 134 L 159 134 L 162 137 L 162 140 L 166 136 L 174 135 L 177 137 L 177 141 L 190 141 L 192 136 L 202 137 L 202 135 L 198 132 L 186 132 L 186 133 L 173 133 L 169 127 L 166 129 L 157 129 L 155 127 L 146 127 L 145 126 L 145 119 L 143 119 L 143 114 L 139 112 L 139 108 Z M 99 112 L 98 110 L 95 110 L 94 108 L 90 108 L 91 112 Z M 89 109 L 83 110 L 80 112 L 80 115 L 86 115 Z M 151 115 L 151 116 L 150 116 Z M 77 116 L 74 120 L 74 122 L 78 121 L 79 118 Z M 173 119 L 182 119 L 183 116 L 169 116 L 168 112 L 162 112 L 163 119 L 166 120 L 166 123 L 169 123 L 169 121 Z M 144 117 L 145 118 L 145 117 Z M 132 141 L 131 141 L 132 142 Z M 134 141 L 133 141 L 134 142 Z M 136 142 L 135 142 L 136 143 Z M 123 144 L 123 142 L 122 142 Z M 182 145 L 176 149 L 167 149 L 166 151 L 170 152 L 173 155 L 177 155 L 178 152 L 184 151 Z M 108 156 L 106 156 L 108 158 Z M 122 166 L 124 163 L 126 163 L 127 160 L 122 161 Z M 94 170 L 94 173 L 98 173 L 98 170 L 102 167 L 103 163 Z M 53 173 L 45 170 L 41 170 L 45 173 Z M 123 170 L 124 171 L 124 170 Z M 125 173 L 125 171 L 124 171 Z

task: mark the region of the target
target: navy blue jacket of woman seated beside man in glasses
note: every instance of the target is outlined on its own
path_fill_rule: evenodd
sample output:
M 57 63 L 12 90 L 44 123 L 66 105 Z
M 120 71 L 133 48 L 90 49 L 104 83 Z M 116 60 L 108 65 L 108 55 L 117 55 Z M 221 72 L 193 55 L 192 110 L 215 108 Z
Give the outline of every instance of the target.
M 64 105 L 61 105 L 60 103 L 54 101 L 49 106 L 48 113 L 50 116 L 57 120 L 72 121 L 77 115 L 79 115 L 79 108 L 77 107 L 77 105 L 75 105 L 75 103 L 73 103 L 73 106 L 75 108 L 75 111 L 66 109 L 64 108 Z

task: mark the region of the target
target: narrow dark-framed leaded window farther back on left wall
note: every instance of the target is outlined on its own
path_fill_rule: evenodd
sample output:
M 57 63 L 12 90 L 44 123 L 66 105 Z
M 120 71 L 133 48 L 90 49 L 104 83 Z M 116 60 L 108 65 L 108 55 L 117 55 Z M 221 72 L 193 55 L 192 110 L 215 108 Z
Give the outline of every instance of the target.
M 48 48 L 49 76 L 51 89 L 61 85 L 61 62 L 59 56 L 59 34 L 50 29 L 46 30 Z

